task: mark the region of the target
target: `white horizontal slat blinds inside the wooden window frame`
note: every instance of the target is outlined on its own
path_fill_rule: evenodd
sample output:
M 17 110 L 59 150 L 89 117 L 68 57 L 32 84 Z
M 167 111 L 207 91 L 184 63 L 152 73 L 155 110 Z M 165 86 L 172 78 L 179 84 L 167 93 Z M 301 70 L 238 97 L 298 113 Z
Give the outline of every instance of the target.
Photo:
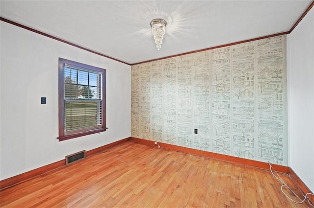
M 102 127 L 102 73 L 64 66 L 64 133 Z

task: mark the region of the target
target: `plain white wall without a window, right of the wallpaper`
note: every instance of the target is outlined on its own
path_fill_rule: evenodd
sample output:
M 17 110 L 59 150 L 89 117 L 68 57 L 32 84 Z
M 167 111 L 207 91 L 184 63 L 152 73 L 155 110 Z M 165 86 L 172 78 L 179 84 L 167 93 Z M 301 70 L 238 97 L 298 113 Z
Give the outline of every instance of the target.
M 314 192 L 314 8 L 288 35 L 289 166 Z

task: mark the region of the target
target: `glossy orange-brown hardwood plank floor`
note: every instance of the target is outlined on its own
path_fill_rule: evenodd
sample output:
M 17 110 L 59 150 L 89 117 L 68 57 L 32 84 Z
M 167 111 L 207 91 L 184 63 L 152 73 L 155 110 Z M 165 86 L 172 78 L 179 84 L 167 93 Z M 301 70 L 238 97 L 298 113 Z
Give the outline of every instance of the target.
M 303 198 L 287 175 L 280 177 Z M 281 185 L 267 170 L 128 141 L 2 190 L 0 207 L 311 207 L 289 201 Z

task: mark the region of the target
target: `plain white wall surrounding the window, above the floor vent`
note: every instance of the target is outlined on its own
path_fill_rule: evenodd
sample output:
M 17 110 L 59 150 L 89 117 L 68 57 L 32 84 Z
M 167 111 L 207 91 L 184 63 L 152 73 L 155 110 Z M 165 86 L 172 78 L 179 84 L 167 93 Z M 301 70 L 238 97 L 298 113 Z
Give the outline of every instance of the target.
M 130 66 L 12 24 L 0 26 L 0 180 L 131 136 Z M 56 139 L 59 57 L 106 69 L 106 132 Z

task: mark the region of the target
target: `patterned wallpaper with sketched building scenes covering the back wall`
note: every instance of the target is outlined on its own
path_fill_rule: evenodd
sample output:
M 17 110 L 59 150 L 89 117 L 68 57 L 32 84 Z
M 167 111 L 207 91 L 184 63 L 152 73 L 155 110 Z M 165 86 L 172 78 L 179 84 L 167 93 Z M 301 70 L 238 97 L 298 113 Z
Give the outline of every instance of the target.
M 131 136 L 288 165 L 286 94 L 286 36 L 134 65 Z

